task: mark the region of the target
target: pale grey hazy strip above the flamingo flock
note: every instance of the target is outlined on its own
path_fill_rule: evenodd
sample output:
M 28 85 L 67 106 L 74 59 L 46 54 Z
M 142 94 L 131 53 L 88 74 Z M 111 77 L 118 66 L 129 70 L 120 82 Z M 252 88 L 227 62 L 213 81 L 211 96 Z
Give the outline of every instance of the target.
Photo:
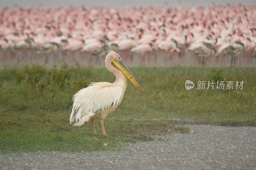
M 72 5 L 84 5 L 85 7 L 90 7 L 90 6 L 103 6 L 103 5 L 111 5 L 111 6 L 145 6 L 145 5 L 153 5 L 153 6 L 158 6 L 158 5 L 163 5 L 167 3 L 169 6 L 198 6 L 198 5 L 208 5 L 211 3 L 215 4 L 256 4 L 256 0 L 129 0 L 129 1 L 121 1 L 121 0 L 0 0 L 0 7 L 3 6 L 9 6 L 9 7 L 14 7 L 15 5 L 18 6 L 44 6 L 44 7 L 52 7 L 52 6 L 59 6 L 63 5 L 66 6 L 68 4 Z

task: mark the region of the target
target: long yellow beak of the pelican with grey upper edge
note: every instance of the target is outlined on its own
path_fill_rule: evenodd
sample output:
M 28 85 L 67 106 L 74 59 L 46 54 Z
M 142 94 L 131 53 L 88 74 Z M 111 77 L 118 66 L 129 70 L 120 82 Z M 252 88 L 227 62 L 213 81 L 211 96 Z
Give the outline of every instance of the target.
M 136 78 L 133 76 L 132 72 L 124 65 L 123 61 L 115 61 L 113 58 L 111 58 L 111 63 L 120 70 L 124 76 L 138 89 L 140 89 L 141 92 L 143 92 L 142 88 L 140 87 L 139 82 L 136 80 Z

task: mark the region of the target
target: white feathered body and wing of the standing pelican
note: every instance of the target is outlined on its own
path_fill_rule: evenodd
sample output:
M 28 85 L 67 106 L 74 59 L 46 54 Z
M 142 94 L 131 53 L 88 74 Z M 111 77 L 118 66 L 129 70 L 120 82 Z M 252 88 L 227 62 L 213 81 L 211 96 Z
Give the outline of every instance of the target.
M 90 120 L 95 113 L 101 114 L 109 107 L 114 108 L 121 102 L 124 89 L 108 82 L 91 83 L 78 91 L 73 97 L 73 108 L 70 123 L 81 126 Z

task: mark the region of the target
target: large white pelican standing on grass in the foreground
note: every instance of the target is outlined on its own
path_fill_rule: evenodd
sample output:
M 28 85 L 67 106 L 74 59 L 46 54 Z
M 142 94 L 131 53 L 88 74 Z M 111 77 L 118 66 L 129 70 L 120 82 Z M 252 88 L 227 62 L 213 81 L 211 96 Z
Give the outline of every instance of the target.
M 104 119 L 116 110 L 124 97 L 127 86 L 126 78 L 143 92 L 136 78 L 116 52 L 108 53 L 105 65 L 109 71 L 115 74 L 116 81 L 114 83 L 91 83 L 88 87 L 78 91 L 73 97 L 73 108 L 69 118 L 70 123 L 74 123 L 74 126 L 81 126 L 84 122 L 91 121 L 92 130 L 95 134 L 95 119 L 100 118 L 100 128 L 103 135 L 106 135 Z

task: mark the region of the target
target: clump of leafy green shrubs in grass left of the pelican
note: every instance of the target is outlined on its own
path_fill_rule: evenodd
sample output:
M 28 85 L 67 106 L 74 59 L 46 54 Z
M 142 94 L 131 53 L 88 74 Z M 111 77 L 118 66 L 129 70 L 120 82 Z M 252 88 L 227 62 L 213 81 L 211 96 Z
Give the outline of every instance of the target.
M 74 69 L 68 69 L 66 65 L 60 69 L 57 66 L 46 69 L 34 64 L 21 67 L 15 75 L 17 85 L 28 86 L 31 93 L 40 92 L 41 95 L 44 94 L 44 89 L 47 89 L 52 92 L 53 98 L 64 86 L 71 86 L 74 92 L 88 86 L 85 78 L 74 76 Z

